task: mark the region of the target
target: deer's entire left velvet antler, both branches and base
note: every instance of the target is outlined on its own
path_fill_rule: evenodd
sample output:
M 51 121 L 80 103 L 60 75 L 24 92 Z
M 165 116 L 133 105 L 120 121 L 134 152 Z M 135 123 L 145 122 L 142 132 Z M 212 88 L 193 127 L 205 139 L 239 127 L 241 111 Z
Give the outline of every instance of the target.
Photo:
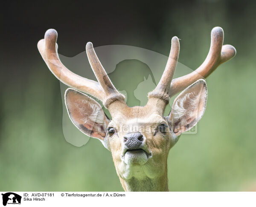
M 94 80 L 76 75 L 67 69 L 59 59 L 57 52 L 58 45 L 56 41 L 56 30 L 48 29 L 45 32 L 44 39 L 38 42 L 38 50 L 48 68 L 53 73 L 53 75 L 56 76 L 56 78 L 70 87 L 98 98 L 104 103 L 106 107 L 108 107 L 113 101 L 116 100 L 125 101 L 125 97 L 116 90 L 107 73 L 105 72 L 105 69 L 103 68 L 93 49 L 92 43 L 87 43 L 86 52 L 90 65 L 99 83 Z

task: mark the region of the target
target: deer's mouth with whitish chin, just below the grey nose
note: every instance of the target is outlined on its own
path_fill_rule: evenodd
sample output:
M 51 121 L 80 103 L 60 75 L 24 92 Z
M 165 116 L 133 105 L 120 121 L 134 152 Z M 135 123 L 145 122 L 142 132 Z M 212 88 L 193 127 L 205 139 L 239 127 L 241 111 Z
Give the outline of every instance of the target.
M 143 165 L 149 158 L 152 157 L 152 152 L 147 152 L 142 148 L 139 149 L 127 149 L 121 156 L 121 159 L 128 165 Z

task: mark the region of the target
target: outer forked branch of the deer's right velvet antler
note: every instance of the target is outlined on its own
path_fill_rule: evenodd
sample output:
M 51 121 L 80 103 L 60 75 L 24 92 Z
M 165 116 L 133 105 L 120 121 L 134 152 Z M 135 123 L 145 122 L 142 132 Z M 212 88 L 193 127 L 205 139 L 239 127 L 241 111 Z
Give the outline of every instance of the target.
M 172 80 L 169 95 L 172 97 L 200 78 L 207 78 L 220 64 L 230 60 L 236 55 L 232 45 L 224 45 L 224 32 L 221 27 L 214 27 L 211 32 L 211 46 L 204 63 L 195 71 Z

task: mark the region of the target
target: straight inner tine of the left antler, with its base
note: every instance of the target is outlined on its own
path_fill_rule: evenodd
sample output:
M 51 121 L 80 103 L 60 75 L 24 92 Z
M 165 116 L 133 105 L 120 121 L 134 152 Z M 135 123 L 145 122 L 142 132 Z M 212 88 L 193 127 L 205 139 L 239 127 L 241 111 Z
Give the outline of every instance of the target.
M 116 90 L 115 86 L 109 79 L 105 69 L 103 68 L 101 62 L 99 61 L 99 58 L 97 57 L 93 49 L 93 44 L 91 42 L 88 42 L 86 44 L 86 53 L 88 60 L 90 62 L 90 66 L 93 69 L 93 72 L 99 84 L 102 86 L 103 91 L 105 92 L 105 106 L 107 107 L 110 103 L 112 103 L 115 100 L 125 102 L 124 95 L 122 95 L 120 92 L 118 92 L 118 90 Z

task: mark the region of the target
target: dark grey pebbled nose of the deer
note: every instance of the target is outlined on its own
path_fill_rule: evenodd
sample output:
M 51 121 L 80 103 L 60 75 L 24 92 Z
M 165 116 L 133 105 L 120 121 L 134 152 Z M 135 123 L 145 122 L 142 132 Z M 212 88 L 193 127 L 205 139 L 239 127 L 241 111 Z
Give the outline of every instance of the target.
M 140 148 L 143 140 L 143 135 L 139 132 L 129 133 L 124 136 L 124 144 L 129 150 Z

